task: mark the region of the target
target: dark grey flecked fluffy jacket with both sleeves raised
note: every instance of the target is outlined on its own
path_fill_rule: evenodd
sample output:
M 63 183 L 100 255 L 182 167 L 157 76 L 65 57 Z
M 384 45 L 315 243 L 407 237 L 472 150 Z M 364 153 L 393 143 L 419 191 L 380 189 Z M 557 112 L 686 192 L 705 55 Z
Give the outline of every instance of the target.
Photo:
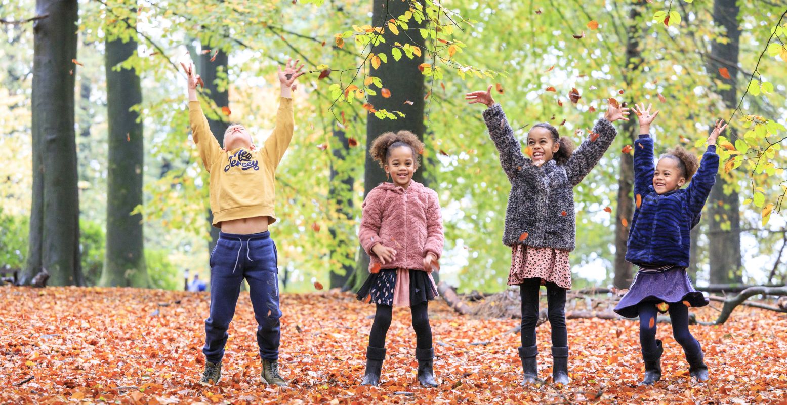
M 574 186 L 593 169 L 615 140 L 615 127 L 606 119 L 600 119 L 593 127 L 598 138 L 582 141 L 568 162 L 558 165 L 550 160 L 538 167 L 523 155 L 500 104 L 491 106 L 483 115 L 500 154 L 500 164 L 511 182 L 503 243 L 573 251 L 576 232 Z M 520 240 L 524 232 L 527 237 Z

